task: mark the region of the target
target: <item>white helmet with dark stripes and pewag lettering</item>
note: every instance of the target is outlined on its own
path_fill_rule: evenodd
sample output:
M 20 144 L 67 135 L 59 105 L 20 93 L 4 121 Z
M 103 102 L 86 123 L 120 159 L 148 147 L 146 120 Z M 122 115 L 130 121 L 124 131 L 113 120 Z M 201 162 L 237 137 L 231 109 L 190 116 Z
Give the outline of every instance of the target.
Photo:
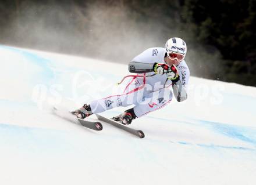
M 167 56 L 170 59 L 173 59 L 173 57 L 170 56 L 170 53 L 177 54 L 177 60 L 181 61 L 184 59 L 187 53 L 187 45 L 186 42 L 183 41 L 183 39 L 178 37 L 170 38 L 166 44 L 165 44 L 165 50 L 167 53 Z M 180 55 L 180 56 L 179 56 Z M 175 55 L 174 55 L 175 56 Z

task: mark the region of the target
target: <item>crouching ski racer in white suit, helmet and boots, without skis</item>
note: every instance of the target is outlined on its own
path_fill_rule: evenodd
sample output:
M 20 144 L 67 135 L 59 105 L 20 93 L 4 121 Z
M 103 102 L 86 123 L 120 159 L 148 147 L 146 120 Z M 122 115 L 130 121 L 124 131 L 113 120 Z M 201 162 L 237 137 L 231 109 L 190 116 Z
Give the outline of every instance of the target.
M 134 105 L 113 118 L 129 125 L 133 119 L 165 106 L 172 100 L 173 94 L 177 101 L 186 100 L 190 77 L 189 67 L 184 60 L 186 53 L 186 43 L 177 37 L 168 39 L 165 48 L 145 50 L 130 61 L 129 71 L 137 75 L 127 76 L 132 79 L 122 94 L 94 100 L 72 113 L 84 119 L 114 107 Z M 173 93 L 169 86 L 172 86 Z

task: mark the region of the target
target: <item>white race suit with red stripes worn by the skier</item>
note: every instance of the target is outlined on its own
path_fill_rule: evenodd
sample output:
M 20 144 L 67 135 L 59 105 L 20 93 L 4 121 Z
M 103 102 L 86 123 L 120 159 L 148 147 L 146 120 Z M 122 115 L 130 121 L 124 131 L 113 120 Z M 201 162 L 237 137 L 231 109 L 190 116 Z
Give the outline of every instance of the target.
M 164 48 L 149 48 L 131 60 L 130 64 L 133 63 L 133 65 L 129 64 L 129 71 L 136 68 L 137 64 L 141 68 L 145 66 L 152 68 L 154 63 L 165 63 L 165 57 Z M 177 69 L 180 75 L 180 84 L 183 89 L 186 89 L 190 77 L 186 61 L 182 60 Z M 141 117 L 162 108 L 172 100 L 172 88 L 169 88 L 172 87 L 172 81 L 167 78 L 166 74 L 140 72 L 140 74 L 129 77 L 131 79 L 123 89 L 123 93 L 92 101 L 90 103 L 92 112 L 94 114 L 101 113 L 114 107 L 126 107 L 134 104 L 134 113 L 137 117 Z

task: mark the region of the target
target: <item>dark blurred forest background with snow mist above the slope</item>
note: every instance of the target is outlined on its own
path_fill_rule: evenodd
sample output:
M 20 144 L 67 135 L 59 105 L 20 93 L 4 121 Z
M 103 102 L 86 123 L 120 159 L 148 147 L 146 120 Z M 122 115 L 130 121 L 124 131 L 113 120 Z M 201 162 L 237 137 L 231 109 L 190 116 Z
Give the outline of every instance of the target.
M 0 2 L 0 43 L 127 63 L 170 37 L 197 77 L 256 86 L 256 1 Z

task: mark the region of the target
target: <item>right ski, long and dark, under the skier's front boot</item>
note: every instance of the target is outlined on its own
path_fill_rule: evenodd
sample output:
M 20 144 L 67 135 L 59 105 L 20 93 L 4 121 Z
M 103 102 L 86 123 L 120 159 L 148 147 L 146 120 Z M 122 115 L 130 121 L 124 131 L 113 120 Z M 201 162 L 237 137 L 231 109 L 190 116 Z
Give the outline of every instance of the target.
M 105 117 L 103 117 L 103 116 L 101 116 L 99 114 L 95 114 L 95 115 L 97 116 L 97 118 L 99 120 L 104 121 L 107 124 L 111 124 L 113 126 L 116 126 L 117 128 L 125 130 L 126 132 L 129 132 L 129 133 L 131 133 L 131 134 L 133 134 L 135 136 L 138 136 L 140 138 L 144 138 L 145 137 L 144 133 L 141 130 L 135 130 L 135 129 L 129 128 L 129 127 L 125 126 L 125 125 L 120 124 L 117 121 L 113 121 L 112 119 L 105 118 Z

